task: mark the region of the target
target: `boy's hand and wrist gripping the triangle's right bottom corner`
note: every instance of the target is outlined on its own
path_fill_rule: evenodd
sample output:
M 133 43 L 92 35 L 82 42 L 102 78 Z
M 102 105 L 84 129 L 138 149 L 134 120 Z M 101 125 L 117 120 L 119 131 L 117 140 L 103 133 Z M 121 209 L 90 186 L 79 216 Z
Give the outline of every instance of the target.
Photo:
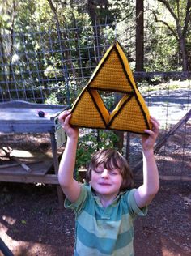
M 153 152 L 156 138 L 159 135 L 159 122 L 154 117 L 150 118 L 150 122 L 153 127 L 152 130 L 144 130 L 148 135 L 142 135 L 142 150 L 144 152 Z

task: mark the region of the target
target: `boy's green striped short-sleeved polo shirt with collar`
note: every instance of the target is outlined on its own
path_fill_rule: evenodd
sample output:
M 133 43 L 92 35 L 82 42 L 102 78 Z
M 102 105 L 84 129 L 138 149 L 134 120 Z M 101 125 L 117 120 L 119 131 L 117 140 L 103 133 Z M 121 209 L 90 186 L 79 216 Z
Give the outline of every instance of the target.
M 147 212 L 138 208 L 134 191 L 120 193 L 106 208 L 89 186 L 81 186 L 76 202 L 66 198 L 65 207 L 76 215 L 74 256 L 134 255 L 134 220 Z

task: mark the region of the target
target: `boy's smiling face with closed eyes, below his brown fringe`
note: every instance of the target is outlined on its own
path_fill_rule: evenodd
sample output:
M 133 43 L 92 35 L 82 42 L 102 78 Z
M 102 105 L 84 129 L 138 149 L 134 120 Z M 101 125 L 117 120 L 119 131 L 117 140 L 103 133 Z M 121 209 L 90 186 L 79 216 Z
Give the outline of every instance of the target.
M 91 171 L 91 186 L 99 196 L 115 198 L 119 193 L 122 183 L 122 176 L 118 169 L 105 169 L 100 164 Z

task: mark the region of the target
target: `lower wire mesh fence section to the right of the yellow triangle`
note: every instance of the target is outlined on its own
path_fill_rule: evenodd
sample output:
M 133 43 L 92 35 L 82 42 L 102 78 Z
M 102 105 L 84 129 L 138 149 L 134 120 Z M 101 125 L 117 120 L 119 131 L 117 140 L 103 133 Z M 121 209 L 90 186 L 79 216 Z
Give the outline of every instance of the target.
M 171 180 L 168 176 L 177 180 L 191 179 L 190 89 L 191 81 L 188 79 L 159 83 L 155 90 L 150 85 L 147 92 L 142 91 L 151 115 L 160 122 L 156 159 L 159 174 L 164 180 Z M 130 137 L 130 162 L 136 166 L 142 159 L 141 139 L 134 134 Z

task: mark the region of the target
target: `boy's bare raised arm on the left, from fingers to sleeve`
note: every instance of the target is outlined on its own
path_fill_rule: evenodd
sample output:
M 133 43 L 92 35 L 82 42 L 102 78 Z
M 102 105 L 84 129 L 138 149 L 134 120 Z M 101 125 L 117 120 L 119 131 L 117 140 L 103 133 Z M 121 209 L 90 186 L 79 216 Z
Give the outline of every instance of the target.
M 66 198 L 73 203 L 79 198 L 80 194 L 79 182 L 75 181 L 73 177 L 79 129 L 70 126 L 70 117 L 70 111 L 64 111 L 59 116 L 59 122 L 61 122 L 67 135 L 67 141 L 58 169 L 58 181 L 64 194 L 66 194 Z

